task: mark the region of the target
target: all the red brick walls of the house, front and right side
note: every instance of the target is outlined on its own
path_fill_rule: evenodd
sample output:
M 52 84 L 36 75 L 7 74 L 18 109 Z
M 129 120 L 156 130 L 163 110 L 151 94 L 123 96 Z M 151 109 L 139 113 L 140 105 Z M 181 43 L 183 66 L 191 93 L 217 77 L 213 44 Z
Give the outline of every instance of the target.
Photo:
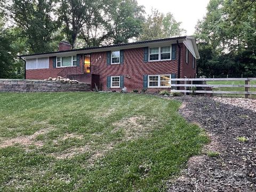
M 193 55 L 189 53 L 189 63 L 185 62 L 186 46 L 181 46 L 181 63 L 180 77 L 194 77 L 196 73 L 192 68 Z M 100 75 L 100 84 L 102 90 L 107 89 L 107 76 L 124 75 L 124 86 L 128 91 L 143 89 L 143 75 L 161 75 L 161 74 L 178 74 L 178 58 L 179 49 L 177 46 L 176 60 L 169 61 L 143 61 L 143 48 L 124 50 L 124 63 L 117 65 L 107 65 L 107 52 L 91 53 L 91 65 L 98 66 Z M 62 71 L 62 72 L 61 72 Z M 68 71 L 68 72 L 67 72 Z M 79 67 L 53 68 L 52 59 L 50 59 L 49 69 L 29 69 L 26 70 L 27 79 L 45 79 L 49 77 L 64 76 L 62 74 L 82 74 L 83 73 L 83 57 L 80 59 Z M 89 78 L 89 76 L 88 76 Z M 166 89 L 166 88 L 162 88 Z M 121 89 L 110 89 L 120 91 Z M 161 89 L 148 88 L 148 91 L 156 91 Z

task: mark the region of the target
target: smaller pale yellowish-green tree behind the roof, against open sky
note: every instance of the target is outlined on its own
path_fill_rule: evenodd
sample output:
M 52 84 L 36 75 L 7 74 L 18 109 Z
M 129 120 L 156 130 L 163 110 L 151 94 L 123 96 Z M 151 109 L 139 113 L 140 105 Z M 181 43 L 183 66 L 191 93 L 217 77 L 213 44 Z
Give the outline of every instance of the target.
M 143 25 L 141 41 L 180 36 L 186 30 L 180 28 L 181 22 L 177 22 L 171 13 L 164 15 L 157 10 L 152 10 Z

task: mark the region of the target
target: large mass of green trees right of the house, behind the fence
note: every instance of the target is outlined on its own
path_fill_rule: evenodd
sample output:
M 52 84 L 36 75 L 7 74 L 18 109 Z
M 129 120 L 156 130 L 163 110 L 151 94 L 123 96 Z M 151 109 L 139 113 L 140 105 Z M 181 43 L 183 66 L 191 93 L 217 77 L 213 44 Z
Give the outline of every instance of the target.
M 196 26 L 198 75 L 256 76 L 255 10 L 255 0 L 209 2 Z

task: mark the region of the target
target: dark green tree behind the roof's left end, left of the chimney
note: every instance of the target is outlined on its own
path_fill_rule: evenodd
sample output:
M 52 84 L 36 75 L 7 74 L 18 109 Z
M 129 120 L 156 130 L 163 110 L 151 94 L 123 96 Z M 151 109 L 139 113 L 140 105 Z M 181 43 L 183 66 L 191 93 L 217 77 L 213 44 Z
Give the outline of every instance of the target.
M 31 52 L 53 51 L 56 44 L 54 33 L 59 25 L 52 18 L 53 0 L 13 0 L 5 6 L 6 13 L 21 30 L 21 36 L 27 39 Z

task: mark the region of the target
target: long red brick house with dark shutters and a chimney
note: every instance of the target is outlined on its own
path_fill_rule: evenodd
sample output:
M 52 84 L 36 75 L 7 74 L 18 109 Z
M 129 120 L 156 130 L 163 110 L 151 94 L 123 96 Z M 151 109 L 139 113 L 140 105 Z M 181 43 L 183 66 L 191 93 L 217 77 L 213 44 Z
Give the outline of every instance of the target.
M 20 55 L 26 79 L 62 76 L 97 85 L 102 90 L 156 91 L 170 88 L 171 78 L 194 78 L 199 53 L 194 37 L 182 36 L 71 50 Z

